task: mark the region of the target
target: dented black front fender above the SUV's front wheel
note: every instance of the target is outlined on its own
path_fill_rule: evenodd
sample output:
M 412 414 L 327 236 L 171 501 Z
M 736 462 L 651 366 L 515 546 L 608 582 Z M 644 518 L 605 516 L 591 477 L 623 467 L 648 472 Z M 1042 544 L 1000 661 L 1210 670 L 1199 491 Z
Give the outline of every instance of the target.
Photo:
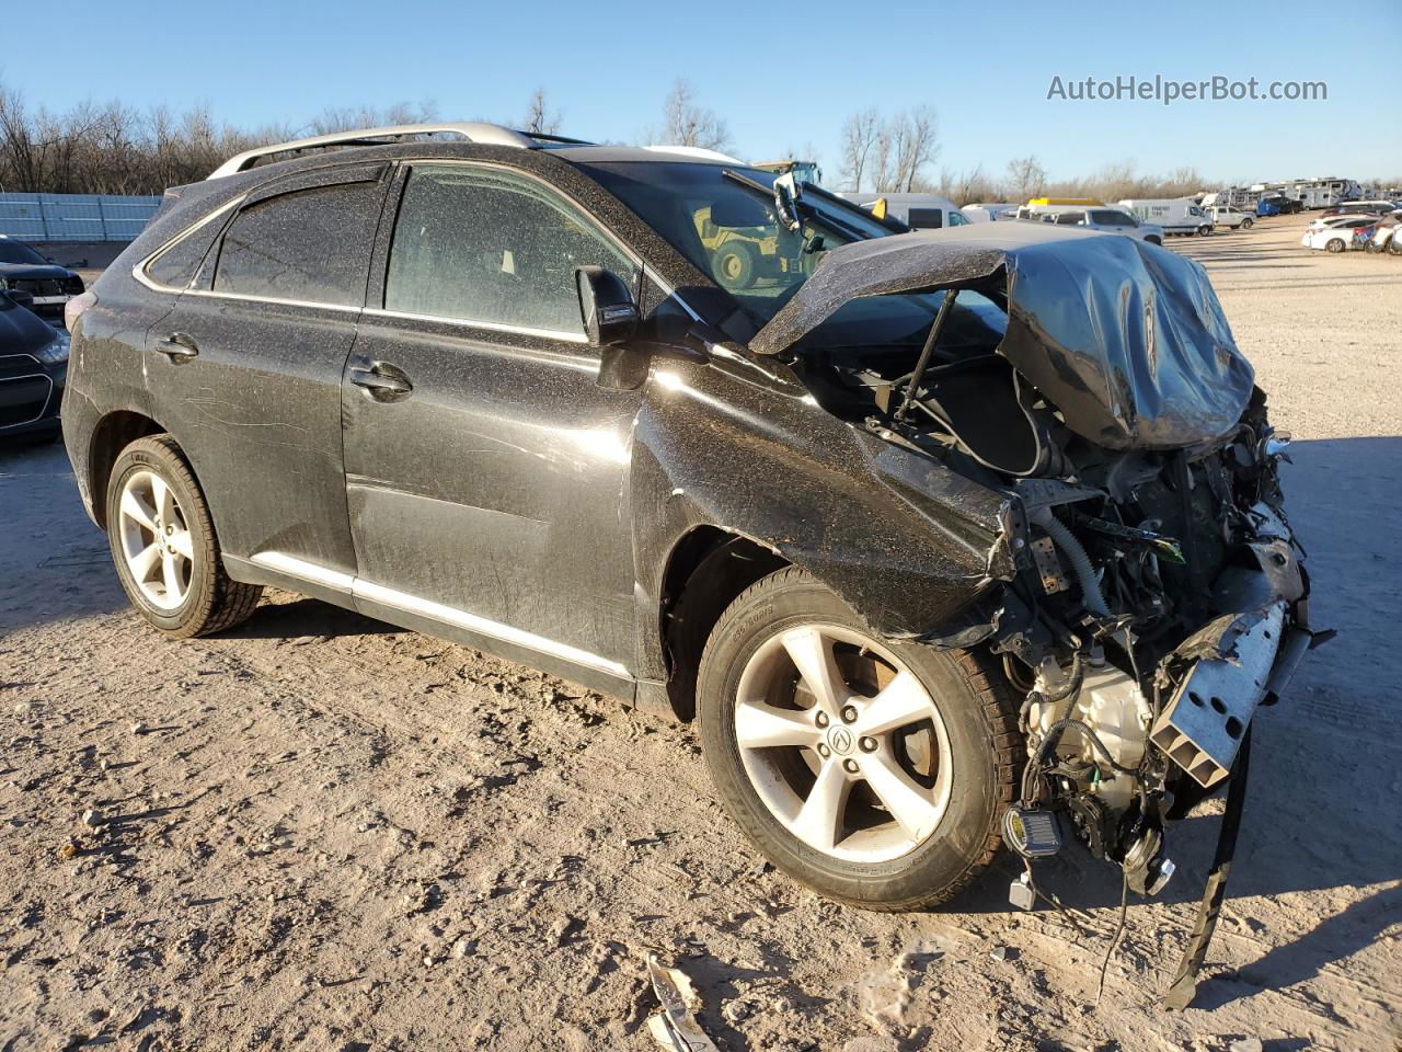
M 631 491 L 649 596 L 698 526 L 774 550 L 893 638 L 938 631 L 1014 574 L 1007 497 L 833 417 L 778 363 L 658 359 Z

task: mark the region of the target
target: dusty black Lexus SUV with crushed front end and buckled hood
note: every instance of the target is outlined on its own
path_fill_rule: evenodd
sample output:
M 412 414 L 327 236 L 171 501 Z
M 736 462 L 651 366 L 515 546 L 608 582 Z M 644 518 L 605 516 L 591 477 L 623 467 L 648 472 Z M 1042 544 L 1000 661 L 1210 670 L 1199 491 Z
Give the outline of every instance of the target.
M 70 324 L 69 454 L 156 628 L 273 585 L 695 717 L 843 902 L 1073 835 L 1157 891 L 1311 641 L 1252 369 L 1127 237 L 370 129 L 170 191 Z

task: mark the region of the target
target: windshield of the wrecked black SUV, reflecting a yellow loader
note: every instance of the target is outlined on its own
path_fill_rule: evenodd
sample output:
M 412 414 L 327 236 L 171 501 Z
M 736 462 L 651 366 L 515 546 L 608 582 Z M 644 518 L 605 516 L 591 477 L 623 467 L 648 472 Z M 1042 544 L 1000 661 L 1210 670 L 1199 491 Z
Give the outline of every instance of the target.
M 735 166 L 580 164 L 760 324 L 808 281 L 822 254 L 893 233 L 852 205 L 805 187 L 796 230 L 774 206 L 774 173 Z

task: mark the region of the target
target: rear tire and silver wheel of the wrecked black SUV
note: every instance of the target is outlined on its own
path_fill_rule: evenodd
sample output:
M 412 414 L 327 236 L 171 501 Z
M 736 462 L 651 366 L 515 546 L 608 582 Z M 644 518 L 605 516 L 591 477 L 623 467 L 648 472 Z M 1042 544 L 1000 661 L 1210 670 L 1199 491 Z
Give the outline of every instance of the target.
M 107 487 L 107 536 L 126 598 L 172 638 L 231 628 L 262 596 L 262 585 L 224 572 L 205 495 L 170 435 L 137 439 L 116 457 Z

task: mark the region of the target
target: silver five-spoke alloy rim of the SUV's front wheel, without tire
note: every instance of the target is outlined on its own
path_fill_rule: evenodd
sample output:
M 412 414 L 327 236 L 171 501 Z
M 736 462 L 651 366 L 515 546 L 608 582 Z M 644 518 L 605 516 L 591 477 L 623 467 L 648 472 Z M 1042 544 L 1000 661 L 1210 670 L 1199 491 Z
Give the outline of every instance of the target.
M 949 736 L 934 697 L 862 633 L 778 633 L 740 675 L 735 738 L 754 793 L 809 847 L 834 858 L 900 858 L 949 807 Z

